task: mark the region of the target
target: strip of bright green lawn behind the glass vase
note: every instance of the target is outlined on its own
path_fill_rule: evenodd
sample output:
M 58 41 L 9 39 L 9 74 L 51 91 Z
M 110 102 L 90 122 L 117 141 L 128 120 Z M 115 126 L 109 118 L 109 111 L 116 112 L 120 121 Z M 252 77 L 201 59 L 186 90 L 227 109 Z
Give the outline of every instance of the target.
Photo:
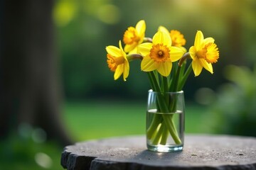
M 205 108 L 186 106 L 186 132 L 203 132 Z M 102 137 L 144 135 L 146 130 L 146 103 L 117 101 L 68 102 L 64 120 L 75 140 Z

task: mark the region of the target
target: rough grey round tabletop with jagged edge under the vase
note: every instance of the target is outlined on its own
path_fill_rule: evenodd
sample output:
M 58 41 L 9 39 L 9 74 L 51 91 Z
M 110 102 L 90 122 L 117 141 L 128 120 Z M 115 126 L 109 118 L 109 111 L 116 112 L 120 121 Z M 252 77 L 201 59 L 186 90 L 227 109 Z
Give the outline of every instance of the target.
M 150 152 L 144 136 L 79 142 L 65 147 L 65 169 L 256 169 L 256 138 L 186 135 L 182 152 Z

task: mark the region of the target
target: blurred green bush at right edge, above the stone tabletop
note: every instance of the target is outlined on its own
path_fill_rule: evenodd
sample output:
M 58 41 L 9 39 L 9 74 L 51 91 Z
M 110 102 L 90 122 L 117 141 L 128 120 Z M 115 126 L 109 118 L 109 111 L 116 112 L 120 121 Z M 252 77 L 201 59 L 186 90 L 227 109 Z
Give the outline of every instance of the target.
M 206 115 L 210 132 L 256 137 L 256 64 L 253 71 L 230 65 L 225 77 L 231 82 L 220 86 Z

